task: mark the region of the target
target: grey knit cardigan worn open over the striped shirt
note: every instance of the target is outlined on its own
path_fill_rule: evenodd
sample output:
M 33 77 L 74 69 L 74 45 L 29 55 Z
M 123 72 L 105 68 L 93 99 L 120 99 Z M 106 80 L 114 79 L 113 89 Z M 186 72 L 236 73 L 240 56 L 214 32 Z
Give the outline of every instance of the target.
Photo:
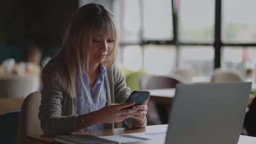
M 45 70 L 42 77 L 42 100 L 38 114 L 42 131 L 44 134 L 79 131 L 76 118 L 76 96 L 72 98 L 63 90 L 60 83 L 54 82 L 54 73 L 50 67 L 48 69 L 47 71 Z M 130 88 L 126 87 L 125 78 L 121 74 L 120 69 L 116 65 L 106 69 L 107 72 L 104 78 L 107 88 L 107 105 L 126 101 Z M 133 118 L 125 119 L 124 122 L 129 128 L 135 126 Z M 145 120 L 144 125 L 141 127 L 144 127 L 146 123 L 147 120 Z M 114 128 L 114 123 L 107 124 L 106 128 Z

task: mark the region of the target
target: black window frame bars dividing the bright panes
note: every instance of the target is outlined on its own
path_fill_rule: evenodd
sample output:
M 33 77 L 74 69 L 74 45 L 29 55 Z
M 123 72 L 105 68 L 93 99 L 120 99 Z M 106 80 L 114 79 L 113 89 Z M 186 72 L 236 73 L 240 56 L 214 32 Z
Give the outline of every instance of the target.
M 120 43 L 121 46 L 125 45 L 141 45 L 142 55 L 144 55 L 144 46 L 149 44 L 154 45 L 172 45 L 176 48 L 176 66 L 179 65 L 179 49 L 181 45 L 207 45 L 213 46 L 214 48 L 214 69 L 221 67 L 221 48 L 225 46 L 241 46 L 241 47 L 256 47 L 256 43 L 223 43 L 221 41 L 221 16 L 222 16 L 222 0 L 215 0 L 215 19 L 214 19 L 214 40 L 213 43 L 184 43 L 179 40 L 179 2 L 180 0 L 171 0 L 172 4 L 172 19 L 173 19 L 173 39 L 171 40 L 143 40 L 142 31 L 140 31 L 141 41 L 140 43 Z M 139 7 L 141 7 L 141 27 L 143 26 L 143 11 L 142 11 L 142 0 L 139 0 Z M 144 58 L 143 58 L 144 60 Z M 142 68 L 144 68 L 144 61 L 142 61 Z

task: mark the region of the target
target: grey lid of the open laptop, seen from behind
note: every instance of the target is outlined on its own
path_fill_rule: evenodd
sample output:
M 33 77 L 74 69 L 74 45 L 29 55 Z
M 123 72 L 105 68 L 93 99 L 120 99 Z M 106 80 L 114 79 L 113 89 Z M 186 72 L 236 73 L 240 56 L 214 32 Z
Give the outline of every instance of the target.
M 176 85 L 165 144 L 237 144 L 251 82 Z

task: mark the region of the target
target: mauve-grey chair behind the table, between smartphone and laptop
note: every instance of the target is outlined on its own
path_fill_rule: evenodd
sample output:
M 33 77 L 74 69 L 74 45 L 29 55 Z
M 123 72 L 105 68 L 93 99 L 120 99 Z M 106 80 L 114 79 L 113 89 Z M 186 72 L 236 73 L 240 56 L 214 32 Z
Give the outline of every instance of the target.
M 141 90 L 175 88 L 177 83 L 184 83 L 184 80 L 179 75 L 143 75 L 141 77 Z M 148 125 L 168 123 L 171 104 L 156 104 L 155 101 L 149 100 L 147 106 Z

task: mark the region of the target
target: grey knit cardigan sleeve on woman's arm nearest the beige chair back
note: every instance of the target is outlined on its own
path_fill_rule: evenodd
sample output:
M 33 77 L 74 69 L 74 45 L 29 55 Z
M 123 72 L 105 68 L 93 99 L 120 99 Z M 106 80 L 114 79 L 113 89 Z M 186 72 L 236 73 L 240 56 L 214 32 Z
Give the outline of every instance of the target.
M 44 134 L 61 134 L 79 131 L 77 115 L 61 116 L 64 91 L 59 83 L 52 80 L 51 75 L 43 75 L 39 120 Z

